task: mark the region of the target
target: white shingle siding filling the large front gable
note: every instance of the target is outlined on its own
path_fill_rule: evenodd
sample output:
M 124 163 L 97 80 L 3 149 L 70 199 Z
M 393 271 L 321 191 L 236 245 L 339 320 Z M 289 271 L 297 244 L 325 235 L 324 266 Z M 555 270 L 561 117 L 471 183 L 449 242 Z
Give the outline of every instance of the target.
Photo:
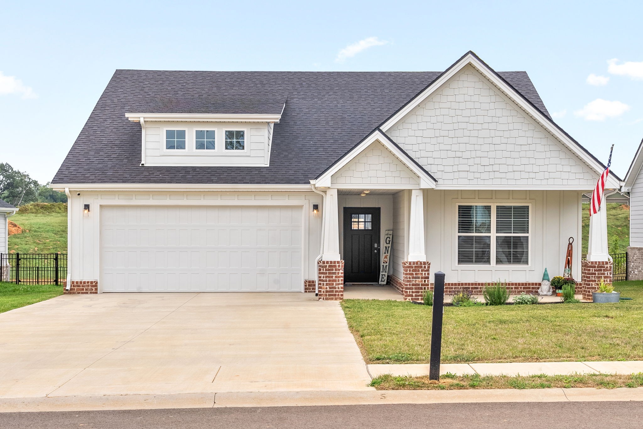
M 467 66 L 388 130 L 438 186 L 587 186 L 598 174 Z

